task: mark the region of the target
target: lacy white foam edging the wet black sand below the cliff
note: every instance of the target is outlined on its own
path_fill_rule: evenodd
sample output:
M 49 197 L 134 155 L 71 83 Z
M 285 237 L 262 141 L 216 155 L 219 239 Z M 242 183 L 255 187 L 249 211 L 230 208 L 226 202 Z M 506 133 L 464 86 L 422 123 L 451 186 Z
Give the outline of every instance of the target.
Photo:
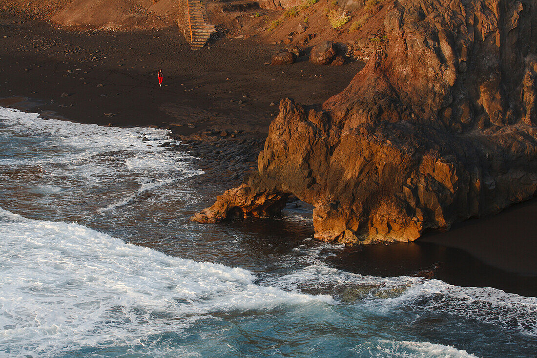
M 270 281 L 282 290 L 331 295 L 336 302 L 357 304 L 391 316 L 397 311 L 447 315 L 537 336 L 537 298 L 495 288 L 459 287 L 421 277 L 362 276 L 314 263 Z

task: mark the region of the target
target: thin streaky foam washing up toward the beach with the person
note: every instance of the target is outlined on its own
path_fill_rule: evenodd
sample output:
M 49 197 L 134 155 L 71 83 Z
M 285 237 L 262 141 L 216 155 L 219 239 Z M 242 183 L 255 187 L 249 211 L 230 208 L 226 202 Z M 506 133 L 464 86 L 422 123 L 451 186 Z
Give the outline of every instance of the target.
M 166 141 L 181 145 L 169 134 L 159 128 L 42 119 L 37 113 L 0 108 L 0 175 L 11 176 L 0 190 L 17 199 L 4 207 L 26 216 L 55 212 L 49 217 L 78 220 L 147 195 L 167 191 L 173 197 L 173 192 L 186 190 L 180 183 L 203 171 L 187 153 L 159 147 Z

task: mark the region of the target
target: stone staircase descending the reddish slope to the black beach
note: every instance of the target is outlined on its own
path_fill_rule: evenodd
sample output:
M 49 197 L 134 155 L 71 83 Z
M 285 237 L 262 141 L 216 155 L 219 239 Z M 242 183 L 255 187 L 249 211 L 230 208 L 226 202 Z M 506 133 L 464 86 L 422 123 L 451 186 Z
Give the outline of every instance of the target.
M 186 4 L 186 21 L 189 27 L 187 31 L 187 41 L 192 49 L 200 49 L 205 46 L 207 40 L 213 32 L 216 32 L 214 25 L 209 25 L 205 21 L 205 8 L 199 0 L 183 0 Z

